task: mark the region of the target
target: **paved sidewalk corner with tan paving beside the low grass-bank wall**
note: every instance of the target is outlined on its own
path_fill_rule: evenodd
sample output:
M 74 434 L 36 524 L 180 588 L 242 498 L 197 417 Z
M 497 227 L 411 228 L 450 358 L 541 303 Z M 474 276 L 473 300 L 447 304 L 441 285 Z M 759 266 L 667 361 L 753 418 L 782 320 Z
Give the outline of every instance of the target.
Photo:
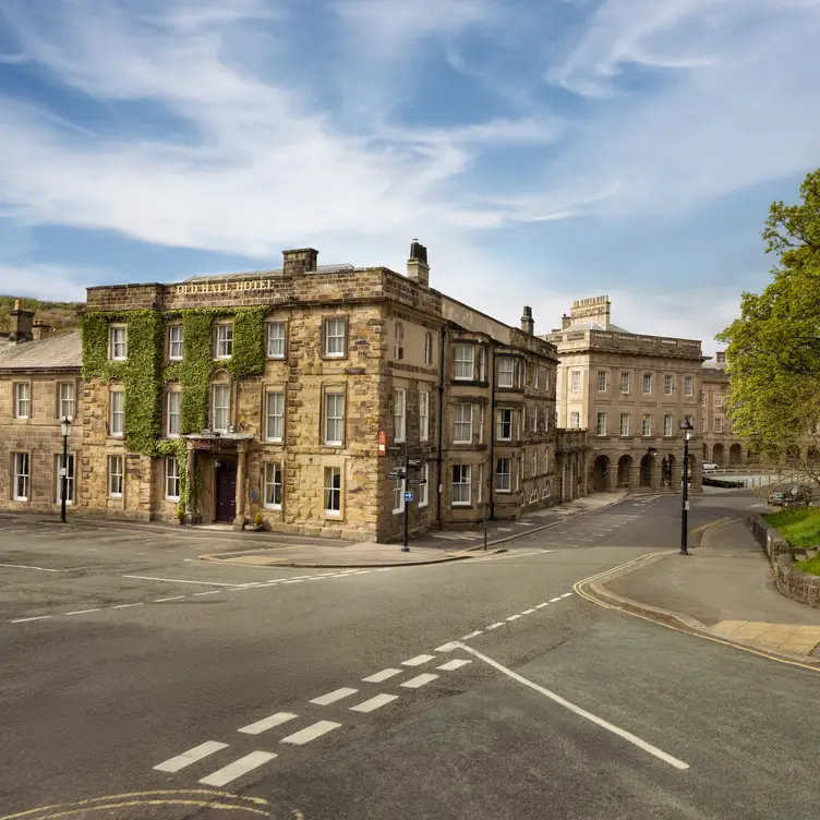
M 707 529 L 688 557 L 671 552 L 599 586 L 684 622 L 694 618 L 715 636 L 820 656 L 820 610 L 777 591 L 765 553 L 741 520 Z

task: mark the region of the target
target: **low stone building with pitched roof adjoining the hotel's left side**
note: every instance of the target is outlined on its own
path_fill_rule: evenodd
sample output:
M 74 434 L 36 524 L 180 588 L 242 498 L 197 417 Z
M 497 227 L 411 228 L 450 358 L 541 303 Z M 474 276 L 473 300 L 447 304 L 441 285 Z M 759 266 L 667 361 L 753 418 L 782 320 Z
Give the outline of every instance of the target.
M 58 509 L 63 438 L 68 442 L 68 504 L 75 504 L 82 445 L 80 333 L 52 335 L 20 302 L 0 337 L 0 498 L 9 509 Z

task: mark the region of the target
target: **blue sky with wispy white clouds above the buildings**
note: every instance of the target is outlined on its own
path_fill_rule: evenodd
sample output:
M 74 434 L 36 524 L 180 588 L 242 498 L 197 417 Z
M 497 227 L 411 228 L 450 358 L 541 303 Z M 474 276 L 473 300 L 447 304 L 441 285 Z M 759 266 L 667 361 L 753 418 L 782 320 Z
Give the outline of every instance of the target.
M 820 165 L 820 0 L 0 0 L 0 293 L 319 264 L 699 338 Z

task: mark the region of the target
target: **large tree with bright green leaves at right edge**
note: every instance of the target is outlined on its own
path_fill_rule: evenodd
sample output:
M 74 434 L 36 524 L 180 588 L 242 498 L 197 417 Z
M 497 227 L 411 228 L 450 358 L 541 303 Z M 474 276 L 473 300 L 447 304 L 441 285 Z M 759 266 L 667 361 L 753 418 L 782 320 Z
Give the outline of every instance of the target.
M 820 169 L 800 197 L 772 204 L 762 237 L 777 255 L 773 281 L 743 294 L 740 317 L 716 339 L 728 345 L 735 433 L 765 459 L 791 456 L 820 486 Z

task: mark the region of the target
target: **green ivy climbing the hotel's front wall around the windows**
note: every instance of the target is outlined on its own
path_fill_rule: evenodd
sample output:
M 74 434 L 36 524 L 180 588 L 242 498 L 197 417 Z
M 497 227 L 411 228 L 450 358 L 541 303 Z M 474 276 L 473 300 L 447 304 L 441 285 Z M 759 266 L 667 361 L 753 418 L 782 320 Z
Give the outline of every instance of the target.
M 265 369 L 266 305 L 226 310 L 194 308 L 185 311 L 138 310 L 122 313 L 86 313 L 81 318 L 83 378 L 102 384 L 121 383 L 125 390 L 125 446 L 152 458 L 176 456 L 180 468 L 179 509 L 189 498 L 188 451 L 183 439 L 162 439 L 162 396 L 167 384 L 182 388 L 180 432 L 198 433 L 208 425 L 212 373 L 225 369 L 234 379 L 260 375 Z M 183 354 L 180 362 L 165 361 L 167 327 L 182 319 Z M 233 323 L 232 355 L 213 358 L 214 326 L 218 319 Z M 128 327 L 128 359 L 108 359 L 108 328 Z

